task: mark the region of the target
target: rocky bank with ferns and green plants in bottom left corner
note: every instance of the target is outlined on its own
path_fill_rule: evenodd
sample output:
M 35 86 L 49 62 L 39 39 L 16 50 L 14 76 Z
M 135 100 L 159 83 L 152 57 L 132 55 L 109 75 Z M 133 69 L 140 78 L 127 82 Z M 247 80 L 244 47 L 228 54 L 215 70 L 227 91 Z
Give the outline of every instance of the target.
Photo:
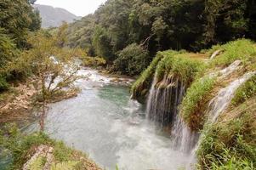
M 7 129 L 9 135 L 1 135 L 1 169 L 23 170 L 100 170 L 94 161 L 64 143 L 50 139 L 45 133 L 20 133 L 16 127 Z

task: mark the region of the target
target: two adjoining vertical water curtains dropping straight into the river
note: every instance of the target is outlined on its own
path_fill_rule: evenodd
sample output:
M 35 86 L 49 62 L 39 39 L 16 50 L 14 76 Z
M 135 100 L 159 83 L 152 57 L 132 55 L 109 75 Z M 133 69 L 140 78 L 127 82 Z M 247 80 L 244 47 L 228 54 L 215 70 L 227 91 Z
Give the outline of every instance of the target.
M 161 82 L 156 76 L 151 85 L 150 95 L 147 101 L 148 118 L 161 127 L 172 126 L 172 145 L 176 150 L 190 152 L 199 134 L 192 132 L 185 122 L 179 117 L 179 104 L 185 95 L 185 85 L 179 77 L 165 75 Z

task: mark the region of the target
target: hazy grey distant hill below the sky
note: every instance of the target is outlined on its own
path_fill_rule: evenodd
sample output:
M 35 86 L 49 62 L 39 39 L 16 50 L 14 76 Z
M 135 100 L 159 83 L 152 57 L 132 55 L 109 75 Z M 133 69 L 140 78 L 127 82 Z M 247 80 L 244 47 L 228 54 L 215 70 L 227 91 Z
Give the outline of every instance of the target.
M 54 8 L 48 5 L 34 4 L 34 8 L 39 10 L 42 18 L 42 27 L 57 27 L 62 24 L 63 21 L 71 23 L 74 20 L 78 20 L 81 17 L 77 17 L 75 14 L 71 14 L 64 8 Z

